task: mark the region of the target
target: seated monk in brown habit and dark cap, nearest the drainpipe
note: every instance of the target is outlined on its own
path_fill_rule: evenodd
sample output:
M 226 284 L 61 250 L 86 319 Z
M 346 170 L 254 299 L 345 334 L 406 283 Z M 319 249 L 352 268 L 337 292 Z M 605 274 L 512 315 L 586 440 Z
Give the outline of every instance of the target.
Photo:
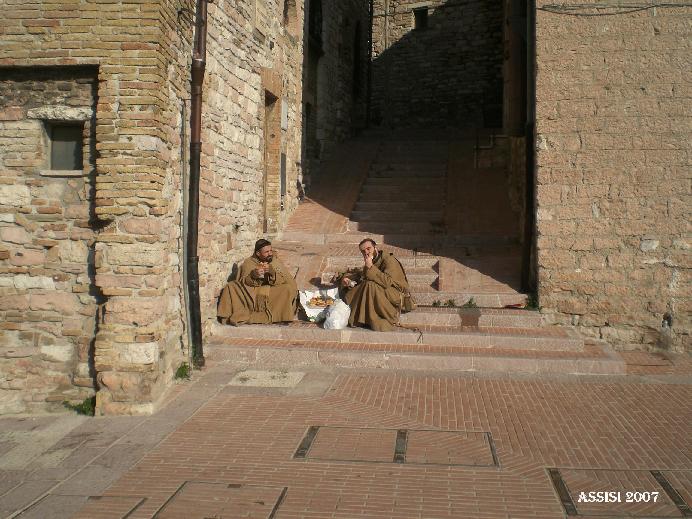
M 257 240 L 254 254 L 221 292 L 217 316 L 234 326 L 293 321 L 297 301 L 296 282 L 274 255 L 271 242 Z

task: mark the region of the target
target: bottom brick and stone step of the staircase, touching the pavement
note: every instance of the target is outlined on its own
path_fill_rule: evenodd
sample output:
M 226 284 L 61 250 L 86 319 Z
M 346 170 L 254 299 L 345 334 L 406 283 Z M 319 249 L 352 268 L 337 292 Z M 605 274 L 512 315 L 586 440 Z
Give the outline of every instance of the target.
M 471 373 L 625 375 L 625 361 L 608 345 L 583 351 L 519 350 L 370 342 L 243 340 L 212 336 L 212 362 L 263 369 L 310 367 Z

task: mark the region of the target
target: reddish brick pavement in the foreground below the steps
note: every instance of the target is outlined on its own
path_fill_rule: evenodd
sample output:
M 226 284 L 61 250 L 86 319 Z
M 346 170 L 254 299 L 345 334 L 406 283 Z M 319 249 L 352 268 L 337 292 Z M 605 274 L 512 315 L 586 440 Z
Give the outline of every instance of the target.
M 126 448 L 149 429 L 163 439 L 134 466 L 111 461 L 119 479 L 89 488 L 83 470 L 19 517 L 565 517 L 548 469 L 579 514 L 682 517 L 654 477 L 691 504 L 692 363 L 668 361 L 677 374 L 309 371 L 293 388 L 228 385 L 237 367 L 212 361 L 158 416 L 135 418 Z M 578 503 L 580 491 L 659 492 L 659 502 Z

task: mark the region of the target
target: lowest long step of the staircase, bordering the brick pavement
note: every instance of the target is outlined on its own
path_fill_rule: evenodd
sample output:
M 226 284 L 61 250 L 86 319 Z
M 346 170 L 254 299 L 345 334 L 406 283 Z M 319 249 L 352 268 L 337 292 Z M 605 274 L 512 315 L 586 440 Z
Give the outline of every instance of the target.
M 536 358 L 480 353 L 316 350 L 301 346 L 243 346 L 210 343 L 206 357 L 212 362 L 239 362 L 255 367 L 396 369 L 415 371 L 500 372 L 523 374 L 625 375 L 624 360 L 608 347 L 602 357 Z M 279 353 L 277 355 L 277 353 Z

